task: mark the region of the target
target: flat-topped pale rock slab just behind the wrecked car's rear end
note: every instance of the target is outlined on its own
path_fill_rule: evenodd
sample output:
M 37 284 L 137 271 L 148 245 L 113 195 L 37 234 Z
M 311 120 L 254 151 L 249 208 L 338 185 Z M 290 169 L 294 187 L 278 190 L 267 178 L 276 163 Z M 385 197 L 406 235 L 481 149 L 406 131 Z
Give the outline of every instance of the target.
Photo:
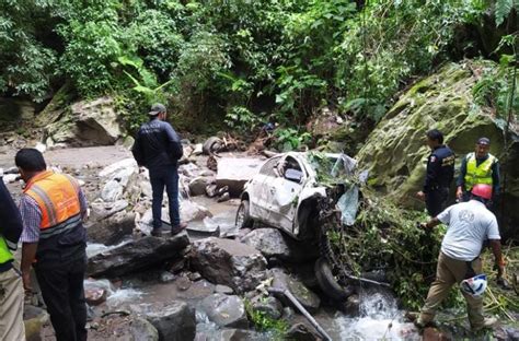
M 238 197 L 263 164 L 264 161 L 257 158 L 221 157 L 218 160 L 217 185 L 229 186 L 230 195 Z

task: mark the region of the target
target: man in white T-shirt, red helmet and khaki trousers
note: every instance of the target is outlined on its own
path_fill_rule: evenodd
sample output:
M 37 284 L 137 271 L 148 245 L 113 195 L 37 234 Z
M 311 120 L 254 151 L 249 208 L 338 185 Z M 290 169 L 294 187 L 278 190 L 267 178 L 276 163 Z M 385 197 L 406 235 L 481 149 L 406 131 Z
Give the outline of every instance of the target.
M 475 185 L 470 201 L 453 204 L 426 224 L 422 224 L 424 228 L 432 228 L 440 223 L 449 227 L 441 243 L 436 280 L 429 289 L 419 318 L 415 321 L 418 327 L 425 327 L 432 321 L 437 308 L 452 285 L 482 273 L 480 254 L 486 239 L 489 240 L 494 252 L 498 268 L 497 277 L 503 277 L 505 262 L 501 258 L 497 220 L 485 205 L 489 199 L 492 199 L 492 186 Z M 483 316 L 482 296 L 475 297 L 463 291 L 462 294 L 466 299 L 472 330 L 487 328 L 496 322 L 495 319 Z

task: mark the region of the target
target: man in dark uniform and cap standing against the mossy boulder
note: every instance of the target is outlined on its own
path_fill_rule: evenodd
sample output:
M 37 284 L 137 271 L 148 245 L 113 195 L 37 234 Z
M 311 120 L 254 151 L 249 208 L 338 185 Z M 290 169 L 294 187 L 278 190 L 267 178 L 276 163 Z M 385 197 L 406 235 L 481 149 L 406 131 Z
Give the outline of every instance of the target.
M 454 177 L 454 153 L 443 144 L 443 134 L 437 129 L 427 132 L 427 145 L 431 153 L 427 160 L 427 176 L 417 197 L 425 199 L 430 216 L 440 213 L 449 197 L 449 187 Z

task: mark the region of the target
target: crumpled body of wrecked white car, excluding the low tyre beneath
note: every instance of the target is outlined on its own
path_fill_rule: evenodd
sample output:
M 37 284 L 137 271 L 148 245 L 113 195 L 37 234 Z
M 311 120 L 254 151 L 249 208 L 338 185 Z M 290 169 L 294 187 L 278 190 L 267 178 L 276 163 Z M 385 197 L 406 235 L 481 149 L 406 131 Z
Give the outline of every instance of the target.
M 348 176 L 356 161 L 345 154 L 285 153 L 265 162 L 245 184 L 237 214 L 238 227 L 262 223 L 304 240 L 318 231 L 318 200 L 331 198 L 346 224 L 355 221 L 358 188 L 350 196 Z M 353 201 L 348 204 L 346 201 Z

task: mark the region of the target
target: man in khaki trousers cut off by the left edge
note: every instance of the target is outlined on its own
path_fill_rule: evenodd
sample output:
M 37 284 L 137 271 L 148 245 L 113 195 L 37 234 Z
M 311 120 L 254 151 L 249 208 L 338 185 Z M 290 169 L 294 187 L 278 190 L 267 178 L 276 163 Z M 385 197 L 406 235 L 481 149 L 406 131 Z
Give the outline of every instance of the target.
M 0 340 L 25 340 L 22 278 L 12 255 L 22 230 L 20 212 L 0 176 Z

